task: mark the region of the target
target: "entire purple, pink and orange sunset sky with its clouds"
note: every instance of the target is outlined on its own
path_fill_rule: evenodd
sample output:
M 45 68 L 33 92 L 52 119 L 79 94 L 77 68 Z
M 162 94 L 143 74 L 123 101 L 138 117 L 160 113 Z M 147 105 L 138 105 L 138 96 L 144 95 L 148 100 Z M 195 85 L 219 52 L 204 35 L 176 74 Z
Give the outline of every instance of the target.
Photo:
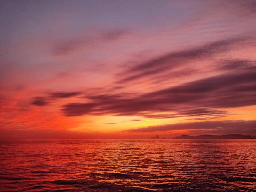
M 0 1 L 0 138 L 256 135 L 256 1 Z

